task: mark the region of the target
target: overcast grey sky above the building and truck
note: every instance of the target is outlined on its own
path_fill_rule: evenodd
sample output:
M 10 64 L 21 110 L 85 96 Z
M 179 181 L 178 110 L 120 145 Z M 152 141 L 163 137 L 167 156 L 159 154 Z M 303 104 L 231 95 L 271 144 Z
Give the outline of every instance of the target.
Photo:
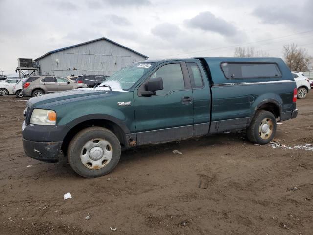
M 255 47 L 313 56 L 313 0 L 0 0 L 0 72 L 17 58 L 107 37 L 150 59 L 233 56 Z

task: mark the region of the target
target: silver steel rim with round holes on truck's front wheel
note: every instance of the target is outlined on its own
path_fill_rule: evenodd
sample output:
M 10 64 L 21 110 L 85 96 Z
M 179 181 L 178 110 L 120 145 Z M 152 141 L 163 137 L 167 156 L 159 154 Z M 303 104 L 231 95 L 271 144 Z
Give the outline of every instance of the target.
M 104 139 L 93 139 L 83 146 L 80 160 L 85 167 L 91 170 L 97 170 L 109 164 L 112 155 L 113 149 L 108 141 Z

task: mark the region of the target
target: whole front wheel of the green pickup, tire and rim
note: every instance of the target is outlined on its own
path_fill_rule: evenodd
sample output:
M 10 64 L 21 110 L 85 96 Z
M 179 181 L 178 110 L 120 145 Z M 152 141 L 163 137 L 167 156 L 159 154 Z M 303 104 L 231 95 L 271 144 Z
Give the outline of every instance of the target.
M 70 141 L 67 156 L 70 166 L 80 176 L 99 177 L 115 168 L 121 156 L 121 145 L 108 129 L 88 127 Z

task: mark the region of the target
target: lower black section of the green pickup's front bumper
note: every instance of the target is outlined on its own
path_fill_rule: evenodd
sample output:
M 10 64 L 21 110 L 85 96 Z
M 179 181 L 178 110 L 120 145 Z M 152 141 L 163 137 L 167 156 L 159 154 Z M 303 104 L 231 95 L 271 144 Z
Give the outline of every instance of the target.
M 35 142 L 23 138 L 24 151 L 29 157 L 50 163 L 59 161 L 62 143 L 63 141 Z

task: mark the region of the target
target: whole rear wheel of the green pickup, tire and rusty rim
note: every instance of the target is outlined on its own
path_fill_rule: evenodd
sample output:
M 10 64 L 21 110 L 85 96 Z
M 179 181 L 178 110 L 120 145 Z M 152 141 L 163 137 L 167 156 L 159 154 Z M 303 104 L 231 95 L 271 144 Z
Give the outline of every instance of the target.
M 267 144 L 273 140 L 276 129 L 274 114 L 266 110 L 257 110 L 246 134 L 252 143 Z

